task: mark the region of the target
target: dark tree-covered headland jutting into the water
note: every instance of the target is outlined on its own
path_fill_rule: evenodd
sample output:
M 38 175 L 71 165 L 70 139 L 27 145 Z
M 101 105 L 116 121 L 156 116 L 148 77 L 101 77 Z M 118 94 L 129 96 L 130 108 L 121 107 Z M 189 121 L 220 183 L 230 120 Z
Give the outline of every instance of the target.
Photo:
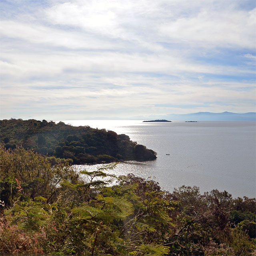
M 0 120 L 1 144 L 6 149 L 22 146 L 50 157 L 54 164 L 61 158 L 74 164 L 119 160 L 147 161 L 156 153 L 132 142 L 125 134 L 89 126 L 74 127 L 46 120 Z M 57 158 L 57 160 L 56 160 Z

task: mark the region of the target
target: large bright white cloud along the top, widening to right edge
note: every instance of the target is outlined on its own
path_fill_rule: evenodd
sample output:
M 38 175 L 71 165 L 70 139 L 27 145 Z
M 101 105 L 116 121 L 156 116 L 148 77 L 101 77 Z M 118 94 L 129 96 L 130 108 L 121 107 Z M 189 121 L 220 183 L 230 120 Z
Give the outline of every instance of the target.
M 234 1 L 220 2 L 73 1 L 56 4 L 46 10 L 46 15 L 53 24 L 139 44 L 165 39 L 201 46 L 254 48 L 256 9 L 248 12 L 238 10 Z

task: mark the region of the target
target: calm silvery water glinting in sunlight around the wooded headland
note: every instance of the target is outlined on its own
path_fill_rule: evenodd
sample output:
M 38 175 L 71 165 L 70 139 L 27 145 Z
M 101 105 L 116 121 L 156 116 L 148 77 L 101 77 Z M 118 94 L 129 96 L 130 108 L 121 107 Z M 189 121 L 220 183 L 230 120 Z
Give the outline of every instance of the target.
M 182 185 L 200 192 L 218 189 L 235 197 L 255 197 L 255 122 L 201 121 L 143 123 L 138 120 L 67 120 L 74 126 L 105 128 L 157 152 L 157 160 L 118 164 L 117 175 L 134 173 L 154 179 L 164 190 Z M 166 155 L 170 154 L 170 155 Z M 95 166 L 78 166 L 87 170 Z

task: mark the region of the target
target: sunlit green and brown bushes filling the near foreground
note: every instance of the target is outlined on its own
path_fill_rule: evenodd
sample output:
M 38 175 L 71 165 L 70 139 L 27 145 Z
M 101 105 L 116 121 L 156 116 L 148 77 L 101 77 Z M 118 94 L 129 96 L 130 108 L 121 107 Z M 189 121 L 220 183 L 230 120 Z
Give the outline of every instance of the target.
M 110 186 L 115 165 L 76 173 L 0 148 L 0 254 L 255 255 L 255 198 L 133 174 Z

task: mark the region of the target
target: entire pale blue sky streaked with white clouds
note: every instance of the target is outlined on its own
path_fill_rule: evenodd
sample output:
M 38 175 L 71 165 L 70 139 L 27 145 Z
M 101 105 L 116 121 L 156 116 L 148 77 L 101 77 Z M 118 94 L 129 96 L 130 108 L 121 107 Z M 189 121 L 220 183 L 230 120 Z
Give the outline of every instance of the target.
M 256 111 L 255 0 L 0 0 L 0 119 Z

